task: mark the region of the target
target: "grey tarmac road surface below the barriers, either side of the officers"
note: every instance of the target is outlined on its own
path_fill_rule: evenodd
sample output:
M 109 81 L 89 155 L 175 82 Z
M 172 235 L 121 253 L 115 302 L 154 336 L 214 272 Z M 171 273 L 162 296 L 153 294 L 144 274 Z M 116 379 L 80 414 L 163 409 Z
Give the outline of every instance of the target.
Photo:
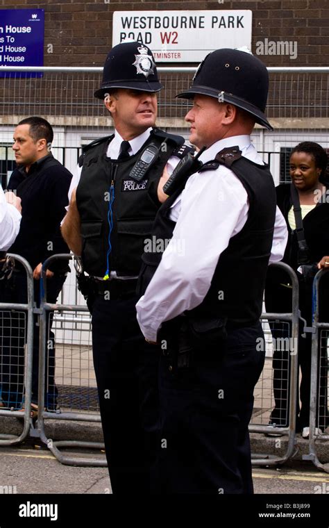
M 94 457 L 95 450 L 88 454 Z M 1 447 L 0 468 L 0 494 L 8 490 L 33 494 L 111 493 L 107 468 L 63 465 L 48 449 L 34 445 L 33 440 L 21 446 Z M 253 468 L 253 482 L 256 494 L 329 494 L 329 474 L 317 470 L 311 462 L 290 461 L 278 468 Z

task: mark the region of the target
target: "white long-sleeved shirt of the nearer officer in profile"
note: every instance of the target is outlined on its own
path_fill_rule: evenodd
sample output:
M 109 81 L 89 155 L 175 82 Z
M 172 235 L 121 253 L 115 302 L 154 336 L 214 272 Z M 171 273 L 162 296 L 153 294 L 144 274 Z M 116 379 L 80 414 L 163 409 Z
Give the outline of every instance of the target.
M 242 156 L 263 164 L 248 135 L 219 140 L 200 156 L 205 163 L 226 147 L 239 146 Z M 146 339 L 156 341 L 167 320 L 199 306 L 207 294 L 219 256 L 230 238 L 248 218 L 248 195 L 237 176 L 219 165 L 217 170 L 190 176 L 185 190 L 171 206 L 177 221 L 173 237 L 143 297 L 137 303 L 137 320 Z M 276 209 L 270 263 L 282 259 L 287 226 Z

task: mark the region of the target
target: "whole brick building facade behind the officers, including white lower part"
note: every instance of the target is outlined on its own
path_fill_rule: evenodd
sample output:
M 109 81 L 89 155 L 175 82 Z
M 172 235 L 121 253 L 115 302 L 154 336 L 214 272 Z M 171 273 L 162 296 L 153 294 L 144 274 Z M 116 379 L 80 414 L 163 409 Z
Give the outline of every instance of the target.
M 115 0 L 0 0 L 1 9 L 43 8 L 45 67 L 102 67 L 112 47 L 115 11 L 134 10 L 251 10 L 252 51 L 267 67 L 326 67 L 329 58 L 329 0 L 249 1 L 115 1 Z M 273 43 L 273 44 L 271 44 Z M 292 49 L 285 47 L 292 44 Z M 280 44 L 277 49 L 275 46 Z M 267 48 L 266 48 L 267 46 Z M 272 49 L 270 49 L 272 46 Z M 274 50 L 273 50 L 274 46 Z M 151 46 L 150 46 L 151 47 Z M 272 54 L 274 53 L 276 54 Z M 277 52 L 276 52 L 277 51 Z M 199 62 L 199 61 L 198 61 Z M 160 63 L 196 66 L 197 63 Z M 185 90 L 192 74 L 161 72 L 165 90 L 159 96 L 158 126 L 187 137 L 187 101 L 174 99 Z M 94 99 L 101 73 L 45 73 L 42 79 L 0 79 L 0 177 L 10 166 L 12 130 L 23 117 L 42 115 L 55 129 L 55 154 L 74 170 L 78 148 L 111 133 L 111 122 L 101 101 Z M 282 178 L 287 153 L 301 140 L 329 148 L 329 74 L 270 74 L 267 116 L 274 132 L 255 129 L 255 146 L 266 153 L 276 181 Z M 14 163 L 13 160 L 10 163 Z

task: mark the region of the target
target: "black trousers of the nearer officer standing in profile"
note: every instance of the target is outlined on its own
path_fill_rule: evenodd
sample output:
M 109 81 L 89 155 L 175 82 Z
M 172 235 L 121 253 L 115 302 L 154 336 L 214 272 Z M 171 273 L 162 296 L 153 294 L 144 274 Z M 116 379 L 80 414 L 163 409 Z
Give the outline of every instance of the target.
M 157 493 L 253 493 L 248 423 L 263 337 L 259 323 L 230 331 L 212 352 L 191 340 L 180 368 L 170 349 L 162 354 Z

